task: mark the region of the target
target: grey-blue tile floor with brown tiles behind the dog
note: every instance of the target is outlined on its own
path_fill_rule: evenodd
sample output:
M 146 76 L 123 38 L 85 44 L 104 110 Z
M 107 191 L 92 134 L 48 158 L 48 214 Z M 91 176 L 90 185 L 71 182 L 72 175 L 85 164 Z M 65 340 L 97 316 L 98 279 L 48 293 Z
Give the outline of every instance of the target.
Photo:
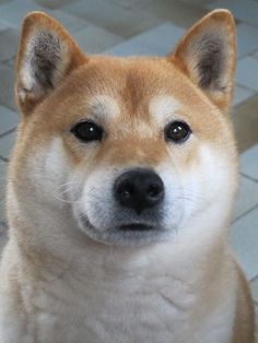
M 232 120 L 241 153 L 241 187 L 230 243 L 258 310 L 258 1 L 0 0 L 0 249 L 7 238 L 4 188 L 17 123 L 13 61 L 21 20 L 32 10 L 58 19 L 89 52 L 163 55 L 210 9 L 228 8 L 237 24 L 238 63 Z

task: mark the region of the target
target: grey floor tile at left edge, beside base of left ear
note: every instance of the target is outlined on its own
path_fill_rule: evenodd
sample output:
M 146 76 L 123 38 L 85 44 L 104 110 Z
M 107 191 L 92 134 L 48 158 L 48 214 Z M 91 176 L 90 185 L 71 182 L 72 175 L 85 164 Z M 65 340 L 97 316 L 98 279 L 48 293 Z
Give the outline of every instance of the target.
M 14 70 L 8 64 L 0 63 L 0 104 L 15 109 Z

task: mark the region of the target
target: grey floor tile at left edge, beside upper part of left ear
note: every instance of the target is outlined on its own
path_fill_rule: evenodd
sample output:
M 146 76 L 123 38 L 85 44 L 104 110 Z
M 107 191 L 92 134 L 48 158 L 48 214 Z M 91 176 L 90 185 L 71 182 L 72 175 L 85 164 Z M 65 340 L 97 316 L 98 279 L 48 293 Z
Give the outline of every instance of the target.
M 0 47 L 4 47 L 0 51 L 0 61 L 9 60 L 16 55 L 19 37 L 19 31 L 14 28 L 9 28 L 0 33 Z

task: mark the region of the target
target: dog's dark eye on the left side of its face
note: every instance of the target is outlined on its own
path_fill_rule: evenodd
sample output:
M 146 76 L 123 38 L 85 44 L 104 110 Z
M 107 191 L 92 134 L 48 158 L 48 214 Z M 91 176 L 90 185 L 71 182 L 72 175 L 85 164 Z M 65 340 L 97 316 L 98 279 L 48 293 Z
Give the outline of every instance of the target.
M 81 141 L 101 141 L 103 135 L 103 129 L 93 121 L 78 122 L 71 132 Z

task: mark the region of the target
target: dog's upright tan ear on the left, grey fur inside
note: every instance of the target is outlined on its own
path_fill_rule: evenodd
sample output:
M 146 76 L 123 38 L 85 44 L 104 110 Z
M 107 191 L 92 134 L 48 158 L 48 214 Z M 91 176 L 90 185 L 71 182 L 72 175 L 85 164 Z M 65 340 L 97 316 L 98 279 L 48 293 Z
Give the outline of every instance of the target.
M 56 20 L 42 12 L 27 14 L 16 58 L 15 95 L 22 113 L 30 114 L 85 60 Z

